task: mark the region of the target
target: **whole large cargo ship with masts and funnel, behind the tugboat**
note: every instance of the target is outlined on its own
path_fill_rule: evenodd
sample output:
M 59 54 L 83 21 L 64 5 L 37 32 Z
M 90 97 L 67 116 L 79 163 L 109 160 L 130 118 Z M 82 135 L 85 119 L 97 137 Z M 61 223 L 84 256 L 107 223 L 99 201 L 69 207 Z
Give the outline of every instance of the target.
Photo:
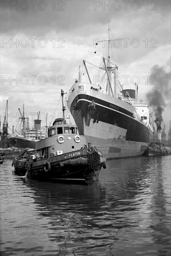
M 89 82 L 82 80 L 79 71 L 79 79 L 70 88 L 67 106 L 79 134 L 85 135 L 107 159 L 143 155 L 153 139 L 152 113 L 146 102 L 139 101 L 138 84 L 133 89 L 121 85 L 118 67 L 110 60 L 110 44 L 109 35 L 108 57 L 103 57 L 103 65 L 98 67 L 105 72 L 105 88 L 92 83 L 88 61 L 83 61 Z

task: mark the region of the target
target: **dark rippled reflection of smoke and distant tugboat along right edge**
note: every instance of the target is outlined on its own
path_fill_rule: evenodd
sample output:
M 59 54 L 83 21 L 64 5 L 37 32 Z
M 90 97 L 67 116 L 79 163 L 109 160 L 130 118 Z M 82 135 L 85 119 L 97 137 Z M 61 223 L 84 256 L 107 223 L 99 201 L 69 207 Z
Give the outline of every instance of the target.
M 165 158 L 166 160 L 168 158 Z M 155 162 L 154 162 L 155 161 Z M 170 176 L 166 176 L 166 166 L 163 164 L 164 159 L 162 158 L 156 158 L 154 159 L 155 163 L 155 175 L 152 175 L 153 179 L 153 186 L 155 193 L 153 193 L 151 197 L 151 223 L 148 225 L 148 232 L 151 233 L 153 237 L 153 241 L 156 244 L 159 244 L 162 246 L 162 249 L 159 249 L 158 251 L 162 253 L 162 251 L 165 250 L 165 252 L 169 251 L 171 249 L 171 246 L 169 245 L 170 241 L 170 235 L 171 235 L 171 226 L 170 226 L 170 220 L 171 220 L 171 214 L 169 214 L 169 210 L 167 209 L 167 195 L 168 191 L 165 190 L 164 187 L 164 181 L 165 179 L 168 179 L 171 181 Z M 170 166 L 168 165 L 168 168 Z M 168 183 L 169 185 L 169 183 Z M 168 187 L 169 189 L 169 187 Z M 171 194 L 170 194 L 171 195 Z

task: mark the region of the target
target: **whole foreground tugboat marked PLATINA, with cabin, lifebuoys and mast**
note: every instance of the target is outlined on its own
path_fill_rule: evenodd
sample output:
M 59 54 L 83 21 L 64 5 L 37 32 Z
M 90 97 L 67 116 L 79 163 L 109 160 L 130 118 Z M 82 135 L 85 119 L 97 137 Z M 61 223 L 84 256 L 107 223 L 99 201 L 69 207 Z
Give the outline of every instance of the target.
M 87 146 L 76 125 L 67 124 L 63 95 L 61 90 L 63 118 L 48 128 L 47 138 L 36 142 L 36 152 L 14 159 L 14 173 L 47 182 L 96 183 L 101 167 L 106 168 L 106 158 L 91 143 Z

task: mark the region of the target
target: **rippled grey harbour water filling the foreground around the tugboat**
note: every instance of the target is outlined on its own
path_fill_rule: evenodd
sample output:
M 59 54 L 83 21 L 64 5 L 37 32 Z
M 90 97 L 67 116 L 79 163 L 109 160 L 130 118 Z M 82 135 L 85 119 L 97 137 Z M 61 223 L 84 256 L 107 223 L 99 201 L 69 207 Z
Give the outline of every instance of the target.
M 96 186 L 37 182 L 0 166 L 1 256 L 171 254 L 171 156 L 107 161 Z

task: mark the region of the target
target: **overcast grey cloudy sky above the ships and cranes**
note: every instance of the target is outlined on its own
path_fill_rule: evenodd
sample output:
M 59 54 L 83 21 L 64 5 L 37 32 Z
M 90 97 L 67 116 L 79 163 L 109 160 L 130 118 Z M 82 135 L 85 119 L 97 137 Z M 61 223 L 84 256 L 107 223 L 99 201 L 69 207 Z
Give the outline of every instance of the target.
M 60 90 L 68 92 L 78 79 L 82 60 L 100 65 L 106 52 L 104 44 L 95 46 L 95 41 L 107 39 L 110 20 L 111 38 L 120 39 L 112 43 L 111 60 L 119 66 L 124 88 L 131 88 L 137 76 L 139 97 L 146 101 L 146 93 L 158 81 L 157 74 L 151 73 L 152 67 L 158 65 L 160 70 L 162 67 L 162 75 L 166 74 L 167 90 L 162 90 L 164 82 L 161 91 L 166 91 L 163 117 L 168 130 L 171 119 L 170 0 L 3 0 L 0 4 L 0 112 L 5 112 L 8 100 L 10 128 L 16 124 L 18 108 L 22 109 L 23 102 L 31 128 L 36 114 L 30 113 L 47 112 L 48 124 L 56 109 L 57 117 L 61 112 Z M 88 68 L 94 80 L 95 70 L 89 65 Z M 124 75 L 129 76 L 127 81 Z M 45 115 L 42 114 L 41 119 L 43 126 Z

